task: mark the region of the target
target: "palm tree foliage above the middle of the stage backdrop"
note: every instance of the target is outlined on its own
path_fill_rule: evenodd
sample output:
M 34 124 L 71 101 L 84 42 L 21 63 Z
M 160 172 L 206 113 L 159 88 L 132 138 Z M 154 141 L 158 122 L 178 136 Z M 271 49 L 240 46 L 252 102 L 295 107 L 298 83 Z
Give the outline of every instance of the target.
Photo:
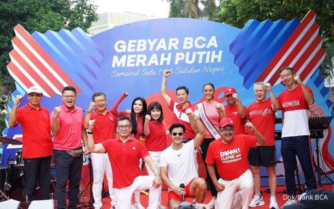
M 170 3 L 169 17 L 187 17 L 214 20 L 217 5 L 215 0 L 167 0 Z M 203 9 L 201 10 L 200 7 Z

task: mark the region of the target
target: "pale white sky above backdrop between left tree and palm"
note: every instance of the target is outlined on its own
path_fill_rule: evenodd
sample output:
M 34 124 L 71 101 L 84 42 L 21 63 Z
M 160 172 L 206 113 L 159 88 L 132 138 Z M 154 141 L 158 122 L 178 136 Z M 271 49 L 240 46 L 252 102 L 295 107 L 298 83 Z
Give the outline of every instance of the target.
M 166 0 L 92 0 L 97 4 L 97 14 L 103 12 L 134 12 L 157 18 L 168 17 L 169 3 Z

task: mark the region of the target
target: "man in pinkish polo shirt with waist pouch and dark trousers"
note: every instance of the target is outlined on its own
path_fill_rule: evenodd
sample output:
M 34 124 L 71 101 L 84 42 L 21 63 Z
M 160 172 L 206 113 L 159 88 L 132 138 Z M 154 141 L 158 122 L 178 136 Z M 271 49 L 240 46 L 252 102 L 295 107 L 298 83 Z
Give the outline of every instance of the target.
M 53 136 L 53 159 L 56 168 L 55 197 L 58 209 L 66 209 L 66 184 L 68 186 L 68 209 L 75 209 L 78 204 L 81 170 L 83 164 L 82 141 L 87 154 L 87 133 L 83 126 L 84 113 L 75 106 L 77 91 L 72 86 L 62 90 L 62 104 L 51 113 L 51 131 Z

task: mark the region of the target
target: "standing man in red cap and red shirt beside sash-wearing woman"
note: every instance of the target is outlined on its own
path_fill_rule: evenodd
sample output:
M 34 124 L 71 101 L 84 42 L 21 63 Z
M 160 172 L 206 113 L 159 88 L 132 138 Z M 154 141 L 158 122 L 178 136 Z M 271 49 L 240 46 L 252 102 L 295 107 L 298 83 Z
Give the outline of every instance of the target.
M 224 91 L 226 100 L 225 112 L 227 118 L 231 118 L 235 124 L 235 134 L 245 134 L 245 121 L 247 108 L 242 105 L 238 97 L 237 90 L 234 87 L 228 87 Z

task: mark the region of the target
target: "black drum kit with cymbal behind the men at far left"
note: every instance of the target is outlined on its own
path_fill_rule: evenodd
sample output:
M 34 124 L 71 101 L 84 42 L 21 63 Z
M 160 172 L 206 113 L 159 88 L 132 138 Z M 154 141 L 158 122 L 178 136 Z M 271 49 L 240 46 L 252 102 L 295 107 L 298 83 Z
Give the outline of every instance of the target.
M 0 143 L 3 144 L 13 144 L 13 145 L 21 145 L 22 142 L 16 139 L 0 136 Z M 20 202 L 26 201 L 26 197 L 24 197 L 24 187 L 26 183 L 26 177 L 24 173 L 24 162 L 22 159 L 22 150 L 17 150 L 15 152 L 16 159 L 8 158 L 7 165 L 3 167 L 5 180 L 2 185 L 0 185 L 0 201 L 14 199 Z M 1 172 L 2 173 L 2 172 Z M 51 167 L 51 178 L 50 178 L 50 193 L 49 198 L 54 199 L 54 191 L 55 191 L 55 169 Z M 2 187 L 3 186 L 3 187 Z M 1 191 L 1 188 L 3 191 Z M 39 185 L 37 182 L 36 185 L 36 200 L 40 200 L 40 191 Z

